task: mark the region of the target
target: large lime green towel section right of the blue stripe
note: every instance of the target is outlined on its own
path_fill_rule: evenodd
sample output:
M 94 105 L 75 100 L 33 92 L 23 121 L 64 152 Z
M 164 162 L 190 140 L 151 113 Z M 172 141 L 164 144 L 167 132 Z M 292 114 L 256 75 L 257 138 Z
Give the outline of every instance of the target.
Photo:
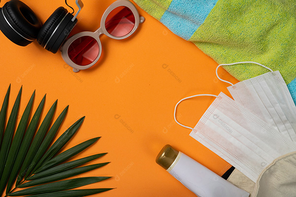
M 219 0 L 189 40 L 218 64 L 259 62 L 288 84 L 296 77 L 296 1 Z M 267 71 L 250 64 L 224 68 L 240 81 Z

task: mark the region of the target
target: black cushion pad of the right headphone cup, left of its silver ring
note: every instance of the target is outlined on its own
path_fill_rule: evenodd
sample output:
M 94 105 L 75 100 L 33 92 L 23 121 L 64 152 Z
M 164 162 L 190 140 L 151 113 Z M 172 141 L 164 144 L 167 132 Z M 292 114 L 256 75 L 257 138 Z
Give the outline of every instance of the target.
M 54 32 L 56 27 L 60 24 L 67 13 L 67 9 L 64 7 L 59 7 L 45 21 L 37 36 L 37 41 L 42 47 L 45 46 L 47 40 L 50 38 L 51 34 Z

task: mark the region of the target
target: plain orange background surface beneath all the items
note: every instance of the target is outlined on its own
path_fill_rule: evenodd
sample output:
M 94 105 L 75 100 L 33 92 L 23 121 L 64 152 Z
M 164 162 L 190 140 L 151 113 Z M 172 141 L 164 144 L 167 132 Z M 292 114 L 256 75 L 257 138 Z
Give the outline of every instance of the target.
M 66 7 L 63 0 L 23 1 L 43 23 L 58 6 Z M 84 8 L 78 15 L 74 32 L 98 29 L 104 11 L 113 1 L 83 0 Z M 2 0 L 0 5 L 5 2 L 7 0 Z M 69 3 L 74 5 L 74 0 Z M 85 115 L 81 129 L 64 150 L 102 136 L 73 158 L 108 152 L 88 164 L 111 164 L 77 176 L 113 176 L 83 187 L 117 188 L 94 196 L 194 197 L 155 163 L 155 157 L 165 144 L 171 144 L 219 175 L 230 167 L 190 137 L 190 131 L 177 125 L 173 117 L 175 104 L 180 99 L 195 94 L 218 95 L 221 91 L 229 95 L 227 84 L 216 78 L 215 61 L 137 8 L 146 21 L 136 33 L 125 40 L 101 36 L 103 53 L 100 62 L 78 73 L 72 72 L 64 63 L 60 52 L 52 54 L 36 41 L 20 47 L 0 33 L 0 102 L 11 83 L 9 110 L 23 85 L 20 114 L 35 89 L 34 112 L 43 95 L 47 94 L 43 118 L 55 99 L 59 101 L 54 120 L 69 104 L 69 112 L 57 136 Z M 222 68 L 220 75 L 237 82 Z M 213 98 L 205 97 L 182 102 L 178 107 L 178 120 L 194 127 L 212 101 Z

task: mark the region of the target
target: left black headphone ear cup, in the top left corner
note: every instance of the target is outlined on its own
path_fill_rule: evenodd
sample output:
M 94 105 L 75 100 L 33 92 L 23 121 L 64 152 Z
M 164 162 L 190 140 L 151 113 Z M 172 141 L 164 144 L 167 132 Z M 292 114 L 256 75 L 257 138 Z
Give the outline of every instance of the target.
M 33 42 L 41 26 L 33 10 L 20 0 L 10 0 L 0 8 L 0 30 L 17 45 Z

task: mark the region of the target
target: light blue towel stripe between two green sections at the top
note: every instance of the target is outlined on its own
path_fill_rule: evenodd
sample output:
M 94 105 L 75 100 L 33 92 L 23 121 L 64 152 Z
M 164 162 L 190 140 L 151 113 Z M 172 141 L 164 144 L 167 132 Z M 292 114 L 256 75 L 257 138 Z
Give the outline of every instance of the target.
M 205 21 L 218 0 L 173 0 L 160 22 L 185 40 Z M 186 17 L 184 17 L 186 16 Z

